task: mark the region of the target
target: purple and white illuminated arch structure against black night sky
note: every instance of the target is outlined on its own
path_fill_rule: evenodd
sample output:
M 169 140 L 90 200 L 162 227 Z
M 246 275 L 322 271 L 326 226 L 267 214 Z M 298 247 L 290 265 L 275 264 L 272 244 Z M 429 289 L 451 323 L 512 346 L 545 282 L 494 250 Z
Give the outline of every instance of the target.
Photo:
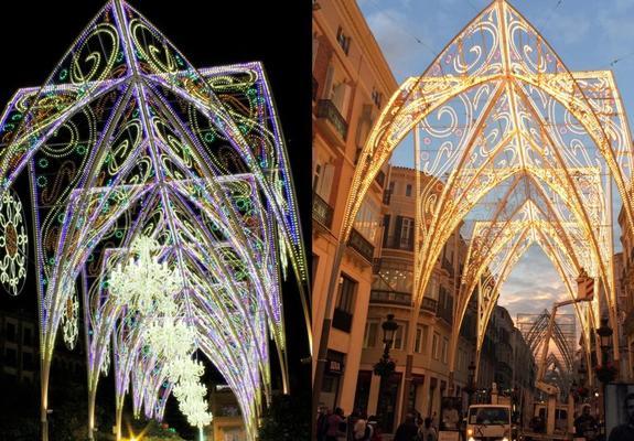
M 269 337 L 288 388 L 280 292 L 288 268 L 309 318 L 292 179 L 262 66 L 196 69 L 139 12 L 112 0 L 41 88 L 13 96 L 0 146 L 4 194 L 24 169 L 31 179 L 43 421 L 56 336 L 62 327 L 74 345 L 79 320 L 89 428 L 99 373 L 110 365 L 118 437 L 130 390 L 136 413 L 162 417 L 171 392 L 165 361 L 148 351 L 143 321 L 108 294 L 110 270 L 143 235 L 184 280 L 174 300 L 254 439 L 271 391 Z M 19 233 L 13 252 L 24 241 Z

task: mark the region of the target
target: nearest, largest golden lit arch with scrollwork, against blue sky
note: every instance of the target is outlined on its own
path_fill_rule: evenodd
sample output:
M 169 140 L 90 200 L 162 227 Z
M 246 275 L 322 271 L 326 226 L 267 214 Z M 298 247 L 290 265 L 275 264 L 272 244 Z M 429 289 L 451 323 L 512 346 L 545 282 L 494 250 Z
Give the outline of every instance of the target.
M 507 109 L 501 103 L 504 100 Z M 462 126 L 454 122 L 459 115 L 452 114 L 450 103 L 463 106 L 465 117 Z M 498 110 L 506 112 L 512 121 L 509 127 L 513 127 L 506 133 L 493 133 L 486 123 L 491 115 L 502 112 Z M 528 122 L 525 121 L 526 115 L 529 116 Z M 437 120 L 453 118 L 450 121 L 453 130 L 438 129 L 434 132 L 427 122 L 432 116 Z M 431 139 L 447 138 L 449 131 L 458 139 L 455 147 L 445 141 L 436 150 L 433 146 L 426 148 L 423 153 L 428 155 L 421 158 L 423 172 L 434 178 L 449 172 L 449 178 L 445 183 L 440 183 L 440 189 L 423 190 L 427 197 L 423 196 L 421 205 L 426 212 L 421 213 L 421 239 L 417 244 L 422 257 L 416 269 L 413 310 L 420 304 L 432 263 L 442 245 L 474 206 L 469 200 L 476 202 L 518 170 L 528 171 L 546 163 L 549 170 L 560 171 L 549 179 L 559 181 L 555 186 L 568 200 L 569 209 L 590 239 L 594 261 L 599 265 L 598 273 L 608 287 L 606 303 L 613 321 L 611 268 L 606 268 L 602 259 L 601 240 L 594 234 L 592 219 L 584 208 L 585 194 L 571 176 L 571 169 L 595 165 L 591 160 L 599 159 L 605 164 L 604 170 L 612 173 L 623 196 L 627 218 L 632 219 L 627 192 L 632 179 L 630 131 L 612 74 L 568 72 L 557 54 L 517 11 L 506 1 L 492 2 L 456 35 L 423 75 L 406 80 L 383 110 L 355 171 L 342 226 L 342 244 L 347 240 L 356 213 L 380 166 L 400 140 L 419 123 L 429 126 Z M 563 126 L 566 132 L 558 130 L 558 125 Z M 470 163 L 475 144 L 480 141 L 480 150 L 483 150 L 491 138 L 496 140 L 493 152 L 477 157 L 475 164 Z M 497 170 L 495 162 L 501 161 L 495 155 L 511 143 L 516 144 L 516 151 L 528 152 L 527 157 L 523 155 L 513 166 Z M 576 154 L 574 147 L 579 144 L 582 148 L 577 149 Z M 597 158 L 591 158 L 591 151 L 587 150 L 590 147 L 598 149 Z M 484 150 L 488 152 L 488 149 Z M 486 168 L 491 170 L 485 172 Z M 463 174 L 461 180 L 465 169 L 476 170 L 475 178 L 472 175 L 473 179 L 465 180 L 469 176 Z M 473 196 L 461 202 L 468 191 Z

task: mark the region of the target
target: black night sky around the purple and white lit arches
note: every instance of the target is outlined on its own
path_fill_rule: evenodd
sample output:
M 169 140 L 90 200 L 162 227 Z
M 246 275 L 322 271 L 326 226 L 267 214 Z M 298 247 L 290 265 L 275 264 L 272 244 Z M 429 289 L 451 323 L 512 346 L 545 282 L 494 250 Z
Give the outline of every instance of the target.
M 311 10 L 308 1 L 151 1 L 130 0 L 195 67 L 261 61 L 268 74 L 287 141 L 302 216 L 304 243 L 310 244 L 311 213 Z M 105 1 L 10 1 L 0 11 L 2 63 L 0 107 L 21 87 L 40 86 L 95 17 Z M 23 204 L 25 180 L 18 189 Z M 29 220 L 29 219 L 28 219 Z M 30 238 L 30 256 L 33 256 Z M 307 247 L 310 259 L 310 245 Z M 309 263 L 310 265 L 310 263 Z M 0 309 L 36 305 L 33 271 L 22 294 L 0 292 Z M 293 394 L 310 395 L 310 364 L 305 325 L 294 280 L 284 284 L 284 315 Z M 103 383 L 100 388 L 110 387 Z M 307 392 L 308 391 L 308 392 Z M 4 394 L 2 394 L 4 395 Z M 0 401 L 4 397 L 0 398 Z M 55 404 L 53 402 L 52 406 Z M 39 406 L 39 401 L 34 402 Z M 0 437 L 1 438 L 1 437 Z

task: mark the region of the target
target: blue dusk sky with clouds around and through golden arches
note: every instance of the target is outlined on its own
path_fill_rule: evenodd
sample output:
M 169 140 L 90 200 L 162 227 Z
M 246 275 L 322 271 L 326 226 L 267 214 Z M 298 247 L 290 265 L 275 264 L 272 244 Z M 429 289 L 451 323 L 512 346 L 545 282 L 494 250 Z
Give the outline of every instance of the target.
M 357 0 L 397 82 L 420 75 L 490 0 Z M 634 0 L 513 0 L 570 71 L 611 68 L 632 126 L 634 116 Z M 411 147 L 395 160 L 406 164 Z M 407 158 L 407 159 L 406 159 Z M 411 166 L 411 162 L 409 162 Z M 619 206 L 615 206 L 619 212 Z M 615 232 L 617 241 L 620 233 Z M 617 250 L 620 244 L 616 245 Z M 540 312 L 563 298 L 563 283 L 538 247 L 528 250 L 502 289 L 499 304 Z M 568 312 L 568 311 L 562 311 Z

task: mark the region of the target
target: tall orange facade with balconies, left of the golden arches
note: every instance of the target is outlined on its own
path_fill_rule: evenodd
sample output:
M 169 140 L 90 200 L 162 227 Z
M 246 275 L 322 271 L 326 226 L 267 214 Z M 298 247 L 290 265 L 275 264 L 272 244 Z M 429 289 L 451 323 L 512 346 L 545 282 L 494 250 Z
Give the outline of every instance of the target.
M 323 320 L 330 316 L 332 327 L 320 401 L 350 413 L 372 289 L 372 265 L 380 244 L 385 171 L 369 189 L 356 218 L 330 311 L 326 295 L 355 164 L 397 83 L 354 0 L 313 2 L 312 50 L 313 353 L 319 354 Z M 313 373 L 315 365 L 313 357 Z

